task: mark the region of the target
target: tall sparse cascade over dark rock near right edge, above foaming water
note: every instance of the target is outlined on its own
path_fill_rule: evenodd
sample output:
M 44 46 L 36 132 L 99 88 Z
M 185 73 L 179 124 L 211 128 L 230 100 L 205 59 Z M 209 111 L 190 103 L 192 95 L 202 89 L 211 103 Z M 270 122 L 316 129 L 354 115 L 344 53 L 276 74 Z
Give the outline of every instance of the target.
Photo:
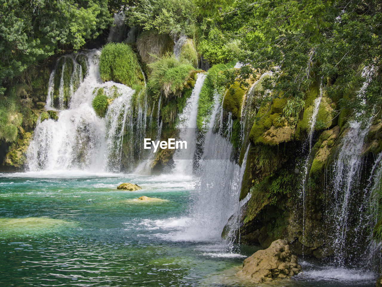
M 366 81 L 359 90 L 358 97 L 363 99 L 364 93 L 371 81 L 371 76 L 366 74 L 367 68 L 363 71 Z M 372 69 L 371 69 L 372 71 Z M 365 208 L 370 205 L 371 192 L 360 188 L 361 171 L 364 163 L 362 155 L 364 139 L 371 127 L 372 119 L 363 121 L 350 121 L 349 129 L 342 140 L 342 147 L 339 150 L 337 161 L 331 168 L 332 194 L 330 195 L 329 218 L 334 225 L 332 241 L 334 249 L 333 263 L 343 266 L 347 261 L 354 264 L 353 258 L 363 258 L 365 256 L 365 246 L 363 240 L 354 238 L 357 233 L 365 238 L 365 234 L 370 226 L 370 220 L 362 214 L 367 211 Z M 376 168 L 373 168 L 375 172 Z M 373 176 L 373 174 L 371 175 Z M 354 223 L 352 220 L 358 214 L 360 220 Z M 358 216 L 356 216 L 358 217 Z

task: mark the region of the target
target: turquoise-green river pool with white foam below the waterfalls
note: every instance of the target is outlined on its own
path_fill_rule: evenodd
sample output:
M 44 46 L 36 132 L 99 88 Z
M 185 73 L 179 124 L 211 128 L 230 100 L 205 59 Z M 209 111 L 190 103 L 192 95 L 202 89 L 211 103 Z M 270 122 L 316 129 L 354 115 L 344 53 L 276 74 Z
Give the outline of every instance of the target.
M 142 189 L 117 190 L 123 182 Z M 194 186 L 192 177 L 176 174 L 0 174 L 0 285 L 252 286 L 234 274 L 258 247 L 230 253 L 219 239 L 189 236 Z M 143 195 L 163 201 L 134 200 Z M 303 273 L 266 286 L 371 287 L 377 279 L 299 262 Z

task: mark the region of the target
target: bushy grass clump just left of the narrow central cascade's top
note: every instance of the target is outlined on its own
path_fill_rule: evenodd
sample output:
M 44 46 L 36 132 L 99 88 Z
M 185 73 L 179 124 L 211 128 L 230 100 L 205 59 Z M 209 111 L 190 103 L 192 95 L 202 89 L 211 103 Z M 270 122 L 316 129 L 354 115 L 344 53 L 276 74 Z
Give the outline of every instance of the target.
M 152 96 L 165 98 L 180 96 L 190 72 L 194 69 L 187 60 L 176 59 L 174 55 L 165 55 L 149 64 L 152 73 L 147 83 L 147 90 Z

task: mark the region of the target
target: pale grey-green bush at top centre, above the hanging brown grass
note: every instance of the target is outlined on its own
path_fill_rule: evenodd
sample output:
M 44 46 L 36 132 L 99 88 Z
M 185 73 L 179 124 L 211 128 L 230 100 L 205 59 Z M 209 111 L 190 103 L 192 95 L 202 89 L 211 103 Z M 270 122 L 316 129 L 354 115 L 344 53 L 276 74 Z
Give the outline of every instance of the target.
M 194 5 L 182 0 L 134 0 L 126 11 L 130 26 L 143 30 L 155 29 L 174 39 L 181 34 L 193 37 L 195 33 Z

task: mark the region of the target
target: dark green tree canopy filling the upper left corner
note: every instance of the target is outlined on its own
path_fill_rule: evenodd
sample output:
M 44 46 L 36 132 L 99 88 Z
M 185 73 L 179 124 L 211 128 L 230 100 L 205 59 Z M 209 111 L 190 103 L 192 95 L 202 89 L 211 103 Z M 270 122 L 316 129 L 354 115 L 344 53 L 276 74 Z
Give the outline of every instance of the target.
M 106 0 L 0 1 L 0 85 L 58 48 L 81 48 L 112 22 Z

